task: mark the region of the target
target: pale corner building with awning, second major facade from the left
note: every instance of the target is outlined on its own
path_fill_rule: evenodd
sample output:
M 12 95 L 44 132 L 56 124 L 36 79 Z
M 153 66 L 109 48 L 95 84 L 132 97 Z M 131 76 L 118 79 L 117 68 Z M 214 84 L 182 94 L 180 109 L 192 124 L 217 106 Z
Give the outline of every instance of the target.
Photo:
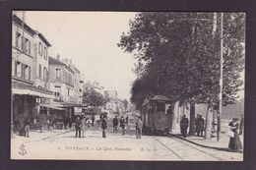
M 49 57 L 49 88 L 54 93 L 54 99 L 47 100 L 46 105 L 62 108 L 61 111 L 54 110 L 53 113 L 60 113 L 60 117 L 74 118 L 74 114 L 82 111 L 82 105 L 75 96 L 75 72 L 70 67 L 68 60 L 60 60 Z M 81 108 L 81 109 L 78 109 Z

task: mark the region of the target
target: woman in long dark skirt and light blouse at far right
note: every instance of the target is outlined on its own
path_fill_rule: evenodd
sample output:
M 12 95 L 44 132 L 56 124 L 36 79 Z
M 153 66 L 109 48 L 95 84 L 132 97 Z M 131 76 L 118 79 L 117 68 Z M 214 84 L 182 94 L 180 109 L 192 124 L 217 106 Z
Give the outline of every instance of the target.
M 228 124 L 230 126 L 230 131 L 233 133 L 229 138 L 228 148 L 232 150 L 242 149 L 242 143 L 239 139 L 237 130 L 239 129 L 239 119 L 233 118 L 232 121 Z

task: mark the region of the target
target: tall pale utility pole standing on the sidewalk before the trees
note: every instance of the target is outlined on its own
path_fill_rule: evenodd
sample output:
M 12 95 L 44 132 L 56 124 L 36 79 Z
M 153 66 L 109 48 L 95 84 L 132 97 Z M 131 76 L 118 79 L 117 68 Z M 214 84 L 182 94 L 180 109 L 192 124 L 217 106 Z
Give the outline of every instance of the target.
M 223 82 L 224 82 L 224 13 L 221 13 L 221 77 L 220 77 L 220 98 L 219 98 L 219 113 L 218 113 L 218 130 L 217 130 L 217 141 L 220 141 L 220 132 L 221 132 L 221 117 L 223 113 Z

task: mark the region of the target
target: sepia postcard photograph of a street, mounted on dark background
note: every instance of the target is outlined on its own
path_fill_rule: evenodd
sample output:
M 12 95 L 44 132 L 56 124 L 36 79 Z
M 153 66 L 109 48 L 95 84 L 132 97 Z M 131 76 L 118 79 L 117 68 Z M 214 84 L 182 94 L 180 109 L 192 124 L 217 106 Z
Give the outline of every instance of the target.
M 245 26 L 240 12 L 12 11 L 11 159 L 243 161 Z

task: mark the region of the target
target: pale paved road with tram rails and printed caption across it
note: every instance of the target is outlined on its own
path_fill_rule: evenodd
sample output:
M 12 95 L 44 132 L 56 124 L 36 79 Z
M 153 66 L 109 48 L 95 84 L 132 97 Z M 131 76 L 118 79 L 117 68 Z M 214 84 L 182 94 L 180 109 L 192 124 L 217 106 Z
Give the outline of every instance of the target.
M 111 130 L 110 130 L 111 131 Z M 33 134 L 32 134 L 33 135 Z M 35 134 L 34 134 L 35 135 Z M 38 136 L 38 135 L 37 135 Z M 38 136 L 39 137 L 39 136 Z M 86 138 L 76 139 L 75 132 L 56 134 L 51 137 L 36 138 L 34 141 L 13 141 L 12 150 L 16 158 L 23 159 L 90 159 L 90 160 L 240 160 L 242 154 L 229 153 L 194 145 L 170 137 L 143 136 L 135 139 L 134 135 L 121 136 L 121 133 L 107 133 L 101 138 L 97 128 L 86 132 Z M 31 139 L 34 139 L 31 138 Z M 28 154 L 17 154 L 24 143 Z

